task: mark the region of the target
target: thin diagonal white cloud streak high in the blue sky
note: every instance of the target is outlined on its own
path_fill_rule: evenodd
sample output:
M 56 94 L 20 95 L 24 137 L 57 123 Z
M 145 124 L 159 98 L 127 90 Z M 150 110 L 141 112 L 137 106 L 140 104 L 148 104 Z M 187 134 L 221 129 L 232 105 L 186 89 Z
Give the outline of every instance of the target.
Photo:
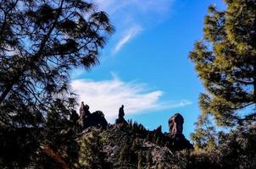
M 114 47 L 113 53 L 115 54 L 119 52 L 122 46 L 124 46 L 125 43 L 127 43 L 128 41 L 131 41 L 131 39 L 134 38 L 141 30 L 142 28 L 140 26 L 134 26 L 130 30 L 127 30 L 125 35 L 120 39 L 120 41 L 118 41 L 118 43 Z

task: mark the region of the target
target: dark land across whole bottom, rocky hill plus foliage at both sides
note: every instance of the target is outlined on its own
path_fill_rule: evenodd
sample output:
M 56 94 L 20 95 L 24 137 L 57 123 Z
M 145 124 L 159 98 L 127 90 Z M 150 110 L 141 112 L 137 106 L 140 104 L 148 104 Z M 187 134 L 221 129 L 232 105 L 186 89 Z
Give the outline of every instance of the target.
M 82 104 L 61 128 L 1 128 L 0 168 L 86 169 L 253 169 L 256 166 L 254 124 L 219 135 L 217 145 L 193 149 L 182 134 L 184 122 L 176 113 L 168 120 L 169 133 L 153 131 L 125 120 L 114 124 L 103 112 Z M 57 123 L 57 122 L 55 122 Z

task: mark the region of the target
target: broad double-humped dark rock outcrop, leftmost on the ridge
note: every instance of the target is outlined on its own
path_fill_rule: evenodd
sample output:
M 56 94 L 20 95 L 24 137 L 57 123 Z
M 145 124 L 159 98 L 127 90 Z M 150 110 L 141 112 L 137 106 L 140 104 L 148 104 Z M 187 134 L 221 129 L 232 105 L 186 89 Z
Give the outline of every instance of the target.
M 90 112 L 89 106 L 84 105 L 84 102 L 81 102 L 80 107 L 80 119 L 79 123 L 81 124 L 82 129 L 86 129 L 92 126 L 95 127 L 101 127 L 101 128 L 107 128 L 108 122 L 104 117 L 103 112 L 97 111 L 97 112 Z

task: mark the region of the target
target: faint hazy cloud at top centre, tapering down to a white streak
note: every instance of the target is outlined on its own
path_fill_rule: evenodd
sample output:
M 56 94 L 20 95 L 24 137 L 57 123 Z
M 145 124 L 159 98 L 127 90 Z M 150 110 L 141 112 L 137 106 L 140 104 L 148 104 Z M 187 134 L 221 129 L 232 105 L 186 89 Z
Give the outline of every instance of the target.
M 114 46 L 111 54 L 116 54 L 132 41 L 140 30 L 155 26 L 170 16 L 175 0 L 92 0 L 98 8 L 106 11 L 115 25 L 112 37 Z

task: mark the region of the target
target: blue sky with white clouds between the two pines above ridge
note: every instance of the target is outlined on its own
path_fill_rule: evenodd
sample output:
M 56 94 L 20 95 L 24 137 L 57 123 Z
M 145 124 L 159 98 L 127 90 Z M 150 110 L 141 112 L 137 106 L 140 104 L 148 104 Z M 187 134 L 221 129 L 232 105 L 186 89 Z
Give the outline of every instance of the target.
M 115 27 L 100 51 L 100 64 L 89 72 L 76 68 L 71 86 L 78 101 L 100 110 L 114 123 L 119 107 L 125 119 L 153 130 L 176 112 L 184 117 L 189 139 L 200 109 L 203 85 L 188 54 L 203 38 L 203 17 L 210 4 L 221 0 L 92 0 L 109 14 Z

